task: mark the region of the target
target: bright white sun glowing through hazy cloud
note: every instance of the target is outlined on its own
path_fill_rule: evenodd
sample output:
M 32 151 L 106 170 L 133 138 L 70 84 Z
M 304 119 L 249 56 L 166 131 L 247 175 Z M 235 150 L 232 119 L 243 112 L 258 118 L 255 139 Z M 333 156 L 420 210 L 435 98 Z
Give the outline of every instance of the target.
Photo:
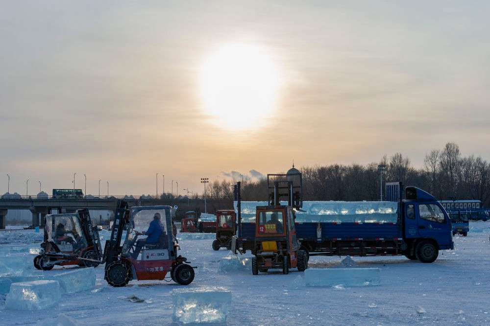
M 228 44 L 201 67 L 203 108 L 225 129 L 254 129 L 276 109 L 279 74 L 265 47 Z

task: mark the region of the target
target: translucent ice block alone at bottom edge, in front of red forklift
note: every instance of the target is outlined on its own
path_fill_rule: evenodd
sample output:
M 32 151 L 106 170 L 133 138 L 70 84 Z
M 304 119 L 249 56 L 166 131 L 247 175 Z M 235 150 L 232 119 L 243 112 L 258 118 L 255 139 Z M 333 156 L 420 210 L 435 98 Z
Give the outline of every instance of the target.
M 221 287 L 178 288 L 171 291 L 174 322 L 225 323 L 231 292 Z

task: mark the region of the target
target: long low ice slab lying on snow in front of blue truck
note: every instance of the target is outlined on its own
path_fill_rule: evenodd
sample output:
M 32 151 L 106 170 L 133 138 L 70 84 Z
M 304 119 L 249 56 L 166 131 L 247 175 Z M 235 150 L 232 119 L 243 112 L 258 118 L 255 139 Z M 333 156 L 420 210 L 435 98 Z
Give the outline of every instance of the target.
M 379 268 L 308 268 L 306 286 L 366 286 L 381 284 Z

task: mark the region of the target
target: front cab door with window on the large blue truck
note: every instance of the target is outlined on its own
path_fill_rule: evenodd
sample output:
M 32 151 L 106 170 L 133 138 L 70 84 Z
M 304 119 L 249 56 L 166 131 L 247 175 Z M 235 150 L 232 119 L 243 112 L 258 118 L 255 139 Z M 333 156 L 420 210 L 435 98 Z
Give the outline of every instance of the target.
M 434 202 L 419 203 L 416 209 L 418 233 L 422 238 L 433 238 L 440 245 L 451 242 L 451 227 L 444 210 Z

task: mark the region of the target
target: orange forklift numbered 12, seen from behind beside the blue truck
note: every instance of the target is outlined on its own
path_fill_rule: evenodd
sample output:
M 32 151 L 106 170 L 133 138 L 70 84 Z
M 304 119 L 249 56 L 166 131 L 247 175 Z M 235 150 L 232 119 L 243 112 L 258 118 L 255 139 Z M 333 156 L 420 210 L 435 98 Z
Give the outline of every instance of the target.
M 300 250 L 294 226 L 295 210 L 303 206 L 301 173 L 295 171 L 267 175 L 269 205 L 256 208 L 253 275 L 273 268 L 282 269 L 283 274 L 289 274 L 290 268 L 300 272 L 308 268 L 308 257 Z M 288 205 L 280 205 L 281 199 Z

